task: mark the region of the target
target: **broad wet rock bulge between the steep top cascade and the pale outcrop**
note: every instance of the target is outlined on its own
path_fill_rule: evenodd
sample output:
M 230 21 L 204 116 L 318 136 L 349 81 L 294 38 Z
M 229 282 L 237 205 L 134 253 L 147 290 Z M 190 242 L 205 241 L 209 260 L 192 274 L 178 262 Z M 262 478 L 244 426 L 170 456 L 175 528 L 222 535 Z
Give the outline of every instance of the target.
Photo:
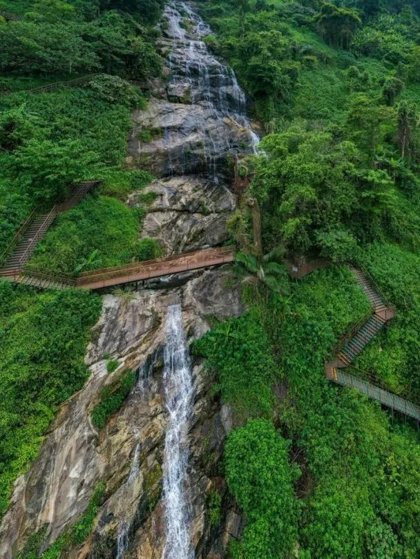
M 184 105 L 152 100 L 133 115 L 128 141 L 129 166 L 156 176 L 202 174 L 226 177 L 227 157 L 249 144 L 249 132 L 233 117 L 208 105 Z M 142 130 L 155 139 L 142 141 Z

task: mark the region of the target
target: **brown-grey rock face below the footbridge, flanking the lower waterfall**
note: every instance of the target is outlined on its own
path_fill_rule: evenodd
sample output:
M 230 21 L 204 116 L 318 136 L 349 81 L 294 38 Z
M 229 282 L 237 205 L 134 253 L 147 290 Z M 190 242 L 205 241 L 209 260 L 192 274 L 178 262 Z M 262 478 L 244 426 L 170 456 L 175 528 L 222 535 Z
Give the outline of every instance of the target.
M 216 315 L 222 320 L 242 313 L 238 290 L 227 288 L 228 278 L 229 273 L 218 268 L 200 273 L 181 288 L 142 291 L 128 301 L 113 295 L 104 297 L 102 317 L 93 328 L 95 341 L 86 354 L 90 378 L 84 389 L 61 407 L 39 458 L 17 480 L 12 504 L 0 528 L 2 559 L 17 557 L 26 538 L 41 529 L 46 530 L 44 547 L 48 547 L 66 525 L 82 516 L 98 482 L 106 483 L 108 500 L 93 535 L 70 556 L 114 558 L 122 522 L 133 523 L 128 547 L 131 556 L 162 556 L 160 488 L 167 422 L 162 347 L 166 308 L 181 302 L 189 340 L 197 339 L 209 330 L 207 317 Z M 105 356 L 119 360 L 120 367 L 114 373 L 107 373 Z M 145 364 L 149 366 L 145 368 Z M 142 371 L 140 380 L 120 411 L 98 432 L 90 422 L 90 413 L 99 393 L 128 369 Z M 200 362 L 194 364 L 193 383 L 195 400 L 188 434 L 193 542 L 198 547 L 209 547 L 213 536 L 205 513 L 206 500 L 211 488 L 219 483 L 214 476 L 229 419 L 211 395 L 213 379 Z M 127 486 L 137 444 L 138 475 Z M 221 490 L 225 491 L 223 484 Z

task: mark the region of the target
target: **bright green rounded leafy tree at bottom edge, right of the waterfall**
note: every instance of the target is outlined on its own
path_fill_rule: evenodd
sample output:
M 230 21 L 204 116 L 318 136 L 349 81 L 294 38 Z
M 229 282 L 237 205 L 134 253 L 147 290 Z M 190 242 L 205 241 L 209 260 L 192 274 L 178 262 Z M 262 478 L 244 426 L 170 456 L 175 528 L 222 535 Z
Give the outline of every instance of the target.
M 229 435 L 226 478 L 247 520 L 242 540 L 233 547 L 234 558 L 281 559 L 292 553 L 297 472 L 289 467 L 288 449 L 289 442 L 267 420 L 249 420 Z

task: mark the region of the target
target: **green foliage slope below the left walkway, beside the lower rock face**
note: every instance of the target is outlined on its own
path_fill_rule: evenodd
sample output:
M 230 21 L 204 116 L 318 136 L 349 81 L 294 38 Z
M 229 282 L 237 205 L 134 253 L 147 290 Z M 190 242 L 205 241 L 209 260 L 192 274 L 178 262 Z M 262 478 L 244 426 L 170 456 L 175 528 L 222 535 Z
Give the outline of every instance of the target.
M 0 282 L 0 511 L 61 402 L 82 388 L 101 301 L 84 291 L 36 294 Z

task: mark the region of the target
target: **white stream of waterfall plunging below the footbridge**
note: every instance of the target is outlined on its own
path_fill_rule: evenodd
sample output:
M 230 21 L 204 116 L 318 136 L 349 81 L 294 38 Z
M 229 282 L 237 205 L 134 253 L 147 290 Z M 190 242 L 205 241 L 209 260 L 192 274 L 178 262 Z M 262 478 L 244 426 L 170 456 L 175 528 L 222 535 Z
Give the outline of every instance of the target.
M 193 383 L 187 337 L 179 304 L 166 311 L 164 391 L 169 414 L 164 442 L 163 499 L 166 543 L 163 559 L 192 559 L 187 478 L 187 424 L 192 410 Z

